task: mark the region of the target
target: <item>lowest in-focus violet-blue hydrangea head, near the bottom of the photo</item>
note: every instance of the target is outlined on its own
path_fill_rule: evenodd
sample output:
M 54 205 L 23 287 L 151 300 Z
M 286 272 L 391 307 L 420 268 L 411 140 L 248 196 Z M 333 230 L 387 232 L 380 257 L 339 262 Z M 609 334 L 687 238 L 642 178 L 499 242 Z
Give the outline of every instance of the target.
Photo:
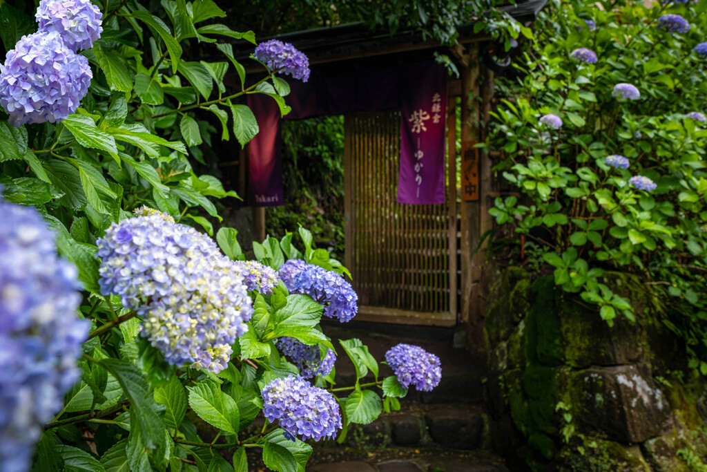
M 263 414 L 269 422 L 279 420 L 285 437 L 303 441 L 334 438 L 341 430 L 341 410 L 334 396 L 312 386 L 301 377 L 274 379 L 263 388 Z

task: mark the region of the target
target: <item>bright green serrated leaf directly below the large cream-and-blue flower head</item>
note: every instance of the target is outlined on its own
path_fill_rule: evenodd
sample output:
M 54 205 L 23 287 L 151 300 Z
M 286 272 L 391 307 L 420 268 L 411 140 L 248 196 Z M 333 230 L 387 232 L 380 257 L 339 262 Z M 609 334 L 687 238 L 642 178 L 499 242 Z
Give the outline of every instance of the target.
M 189 405 L 199 418 L 230 434 L 238 432 L 238 405 L 233 398 L 221 391 L 216 382 L 204 380 L 187 388 Z

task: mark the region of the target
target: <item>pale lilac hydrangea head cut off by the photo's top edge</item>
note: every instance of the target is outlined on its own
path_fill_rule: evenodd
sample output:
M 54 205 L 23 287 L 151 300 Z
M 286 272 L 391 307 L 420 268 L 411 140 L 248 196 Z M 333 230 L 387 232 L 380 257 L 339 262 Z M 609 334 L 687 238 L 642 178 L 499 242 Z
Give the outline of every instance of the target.
M 89 0 L 42 0 L 35 13 L 40 32 L 59 33 L 64 44 L 74 52 L 93 47 L 93 42 L 103 33 L 102 16 Z

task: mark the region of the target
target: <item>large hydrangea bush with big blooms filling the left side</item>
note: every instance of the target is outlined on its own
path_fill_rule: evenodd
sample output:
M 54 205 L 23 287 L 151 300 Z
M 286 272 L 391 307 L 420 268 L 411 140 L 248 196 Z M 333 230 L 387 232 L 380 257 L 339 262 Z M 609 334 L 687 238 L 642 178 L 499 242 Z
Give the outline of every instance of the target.
M 211 238 L 214 200 L 238 195 L 192 165 L 255 136 L 246 94 L 287 113 L 282 76 L 308 79 L 308 59 L 218 23 L 212 0 L 156 5 L 0 3 L 2 471 L 245 472 L 247 448 L 303 470 L 303 441 L 343 441 L 439 381 L 404 355 L 379 376 L 360 340 L 327 338 L 322 316 L 350 321 L 357 297 L 306 229 L 303 252 L 287 234 L 257 260 L 235 229 Z M 253 43 L 255 84 L 233 41 Z

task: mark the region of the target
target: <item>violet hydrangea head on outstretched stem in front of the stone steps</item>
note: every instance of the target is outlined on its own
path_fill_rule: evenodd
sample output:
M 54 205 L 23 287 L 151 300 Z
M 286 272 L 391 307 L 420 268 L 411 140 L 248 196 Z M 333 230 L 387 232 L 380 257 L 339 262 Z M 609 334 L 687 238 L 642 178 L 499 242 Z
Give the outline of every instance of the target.
M 385 362 L 393 369 L 402 386 L 431 391 L 442 379 L 440 359 L 422 347 L 399 344 L 385 353 Z

